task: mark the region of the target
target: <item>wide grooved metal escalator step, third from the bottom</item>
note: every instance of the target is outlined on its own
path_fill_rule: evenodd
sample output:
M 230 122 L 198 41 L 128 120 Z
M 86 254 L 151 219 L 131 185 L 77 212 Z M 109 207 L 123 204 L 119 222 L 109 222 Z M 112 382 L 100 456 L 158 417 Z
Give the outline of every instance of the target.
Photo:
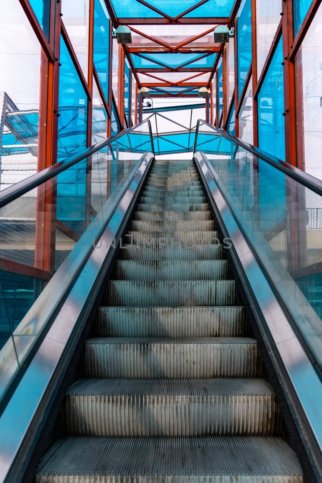
M 258 377 L 257 342 L 245 337 L 99 337 L 85 343 L 84 377 Z

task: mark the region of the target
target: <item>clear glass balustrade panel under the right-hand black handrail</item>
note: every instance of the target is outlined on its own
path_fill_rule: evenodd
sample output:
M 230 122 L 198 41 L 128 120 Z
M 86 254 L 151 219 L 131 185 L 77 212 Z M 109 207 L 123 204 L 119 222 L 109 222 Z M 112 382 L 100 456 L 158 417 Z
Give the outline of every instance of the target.
M 210 129 L 200 123 L 196 151 L 322 368 L 322 197 Z

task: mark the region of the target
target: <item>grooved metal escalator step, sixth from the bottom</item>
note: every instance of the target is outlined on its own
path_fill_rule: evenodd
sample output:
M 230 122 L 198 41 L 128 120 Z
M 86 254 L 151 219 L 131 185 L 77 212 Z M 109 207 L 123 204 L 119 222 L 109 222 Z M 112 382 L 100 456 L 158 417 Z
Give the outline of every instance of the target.
M 113 280 L 231 280 L 228 260 L 117 260 Z

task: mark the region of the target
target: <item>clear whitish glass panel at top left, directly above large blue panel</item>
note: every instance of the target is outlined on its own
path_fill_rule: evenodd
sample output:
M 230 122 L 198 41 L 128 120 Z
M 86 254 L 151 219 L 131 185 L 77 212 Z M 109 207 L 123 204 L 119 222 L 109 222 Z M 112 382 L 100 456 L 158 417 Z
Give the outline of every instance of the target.
M 84 77 L 88 80 L 89 0 L 62 0 L 61 13 Z

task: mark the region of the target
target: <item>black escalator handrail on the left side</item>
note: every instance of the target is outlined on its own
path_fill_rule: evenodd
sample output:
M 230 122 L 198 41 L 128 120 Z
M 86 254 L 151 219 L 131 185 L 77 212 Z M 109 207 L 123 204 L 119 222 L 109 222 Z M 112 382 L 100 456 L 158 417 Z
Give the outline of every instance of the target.
M 92 146 L 84 149 L 81 153 L 78 153 L 77 155 L 70 156 L 64 159 L 63 161 L 60 161 L 56 164 L 53 164 L 52 166 L 49 166 L 49 168 L 45 168 L 44 170 L 41 170 L 35 174 L 32 174 L 31 176 L 28 176 L 28 178 L 22 181 L 19 181 L 18 183 L 15 183 L 14 185 L 9 186 L 8 188 L 5 188 L 3 191 L 0 191 L 0 208 L 10 203 L 14 199 L 17 199 L 20 196 L 28 193 L 28 191 L 32 190 L 33 188 L 36 188 L 37 186 L 42 185 L 42 183 L 44 183 L 45 181 L 48 181 L 49 179 L 54 178 L 55 176 L 57 176 L 57 174 L 67 170 L 74 164 L 79 163 L 86 157 L 97 153 L 100 149 L 103 149 L 108 144 L 111 144 L 112 142 L 117 141 L 125 134 L 130 133 L 131 131 L 133 131 L 134 129 L 138 128 L 139 126 L 141 126 L 146 122 L 148 123 L 148 126 L 149 126 L 151 147 L 152 147 L 152 153 L 154 156 L 154 144 L 153 144 L 151 122 L 149 119 L 145 119 L 144 121 L 140 122 L 139 124 L 136 124 L 135 126 L 132 126 L 131 128 L 126 128 L 120 131 L 118 134 L 111 136 L 110 138 L 104 139 L 103 141 L 93 144 Z

